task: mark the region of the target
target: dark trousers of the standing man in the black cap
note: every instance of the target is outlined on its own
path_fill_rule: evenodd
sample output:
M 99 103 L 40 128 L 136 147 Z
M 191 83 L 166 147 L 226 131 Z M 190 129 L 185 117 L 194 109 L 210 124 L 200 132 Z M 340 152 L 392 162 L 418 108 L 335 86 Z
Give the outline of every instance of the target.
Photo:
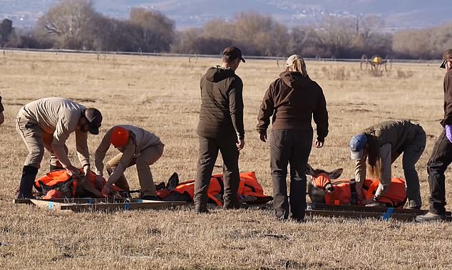
M 207 189 L 210 184 L 213 166 L 217 160 L 218 150 L 223 159 L 223 177 L 225 180 L 225 203 L 238 202 L 237 189 L 240 184 L 239 150 L 237 136 L 229 137 L 199 137 L 200 149 L 195 178 L 195 204 L 207 204 Z

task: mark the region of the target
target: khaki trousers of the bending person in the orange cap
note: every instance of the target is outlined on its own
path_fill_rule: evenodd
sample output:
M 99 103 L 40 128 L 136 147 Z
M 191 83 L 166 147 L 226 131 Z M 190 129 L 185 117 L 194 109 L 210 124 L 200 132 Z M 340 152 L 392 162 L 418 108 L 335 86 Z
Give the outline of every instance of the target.
M 141 187 L 141 197 L 143 196 L 155 196 L 155 185 L 153 180 L 153 175 L 150 172 L 150 165 L 153 165 L 162 155 L 163 155 L 163 143 L 160 142 L 157 145 L 152 145 L 140 152 L 138 157 L 133 157 L 133 160 L 127 167 L 133 166 L 136 164 L 137 172 L 138 172 L 138 180 L 140 181 Z M 123 153 L 115 155 L 111 160 L 109 160 L 106 164 L 106 169 L 108 175 L 111 175 L 115 167 L 118 166 L 121 157 L 123 157 Z M 124 175 L 121 175 L 118 178 L 118 181 L 115 182 L 117 187 L 120 187 L 125 190 L 130 190 L 127 180 Z

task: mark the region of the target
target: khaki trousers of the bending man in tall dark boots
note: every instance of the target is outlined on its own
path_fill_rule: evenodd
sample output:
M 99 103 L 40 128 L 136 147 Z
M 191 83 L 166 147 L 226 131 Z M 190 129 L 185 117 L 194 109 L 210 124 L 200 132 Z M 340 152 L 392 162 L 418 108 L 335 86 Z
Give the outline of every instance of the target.
M 44 148 L 51 153 L 50 164 L 62 167 L 52 149 L 53 134 L 45 133 L 38 124 L 26 118 L 16 118 L 16 130 L 24 140 L 29 155 L 26 157 L 24 166 L 41 167 L 44 155 Z M 64 145 L 64 150 L 68 153 L 68 147 Z

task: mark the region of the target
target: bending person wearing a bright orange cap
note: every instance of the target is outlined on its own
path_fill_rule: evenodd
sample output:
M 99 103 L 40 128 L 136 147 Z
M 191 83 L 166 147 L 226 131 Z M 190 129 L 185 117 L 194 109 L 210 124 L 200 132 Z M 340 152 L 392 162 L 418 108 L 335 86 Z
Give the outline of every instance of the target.
M 96 184 L 103 177 L 103 159 L 110 145 L 120 151 L 106 163 L 108 181 L 103 186 L 103 194 L 111 192 L 111 185 L 115 184 L 125 190 L 130 190 L 124 171 L 136 164 L 138 180 L 140 181 L 142 199 L 157 199 L 150 165 L 154 164 L 163 154 L 163 143 L 153 133 L 134 125 L 115 125 L 103 136 L 101 144 L 96 150 L 94 162 L 96 165 Z

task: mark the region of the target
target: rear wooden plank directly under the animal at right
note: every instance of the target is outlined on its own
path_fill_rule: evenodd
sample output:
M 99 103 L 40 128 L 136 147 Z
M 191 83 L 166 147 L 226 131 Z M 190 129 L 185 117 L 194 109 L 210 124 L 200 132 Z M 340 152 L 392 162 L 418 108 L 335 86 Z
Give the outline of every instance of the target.
M 318 204 L 312 203 L 308 204 L 308 207 L 312 210 L 337 210 L 346 212 L 387 212 L 388 209 L 392 207 L 365 207 L 359 205 L 333 205 L 333 204 Z M 404 209 L 404 208 L 392 208 L 394 213 L 404 213 L 404 214 L 426 214 L 428 210 L 426 209 Z M 450 216 L 451 212 L 446 212 L 446 216 Z

